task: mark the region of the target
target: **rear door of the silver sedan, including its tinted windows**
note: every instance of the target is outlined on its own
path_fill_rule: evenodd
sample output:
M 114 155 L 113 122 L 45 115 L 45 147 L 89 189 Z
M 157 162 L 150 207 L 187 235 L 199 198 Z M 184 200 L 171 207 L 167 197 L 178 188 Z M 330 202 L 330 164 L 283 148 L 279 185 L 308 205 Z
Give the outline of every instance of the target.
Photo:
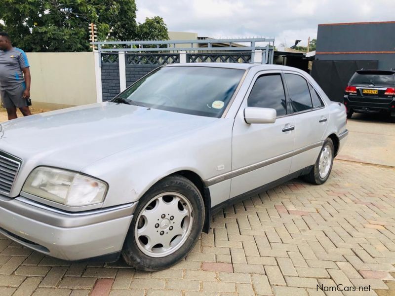
M 329 111 L 301 74 L 284 71 L 295 120 L 295 144 L 290 173 L 316 162 L 329 121 Z

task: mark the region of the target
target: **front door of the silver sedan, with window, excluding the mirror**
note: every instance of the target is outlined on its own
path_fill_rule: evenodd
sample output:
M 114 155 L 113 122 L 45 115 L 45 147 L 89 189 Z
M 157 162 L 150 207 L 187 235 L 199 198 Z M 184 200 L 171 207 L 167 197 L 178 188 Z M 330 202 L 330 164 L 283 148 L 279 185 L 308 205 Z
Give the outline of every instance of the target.
M 287 116 L 287 105 L 282 74 L 265 71 L 255 76 L 233 128 L 231 198 L 289 174 L 295 122 Z M 276 122 L 247 124 L 246 107 L 273 108 Z

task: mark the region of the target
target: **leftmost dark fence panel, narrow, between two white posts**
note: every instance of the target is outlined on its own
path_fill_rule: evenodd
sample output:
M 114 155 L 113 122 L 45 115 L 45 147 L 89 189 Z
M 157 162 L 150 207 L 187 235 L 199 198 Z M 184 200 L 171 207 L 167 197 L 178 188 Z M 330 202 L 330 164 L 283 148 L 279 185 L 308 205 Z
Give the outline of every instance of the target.
M 118 53 L 102 53 L 103 101 L 109 101 L 120 92 Z

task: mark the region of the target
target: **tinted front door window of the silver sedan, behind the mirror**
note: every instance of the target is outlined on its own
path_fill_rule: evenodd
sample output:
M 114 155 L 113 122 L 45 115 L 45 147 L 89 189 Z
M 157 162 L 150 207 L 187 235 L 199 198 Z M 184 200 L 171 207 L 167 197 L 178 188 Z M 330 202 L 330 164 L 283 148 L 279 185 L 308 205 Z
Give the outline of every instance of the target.
M 256 79 L 247 101 L 248 107 L 273 108 L 277 116 L 286 114 L 285 92 L 280 74 Z

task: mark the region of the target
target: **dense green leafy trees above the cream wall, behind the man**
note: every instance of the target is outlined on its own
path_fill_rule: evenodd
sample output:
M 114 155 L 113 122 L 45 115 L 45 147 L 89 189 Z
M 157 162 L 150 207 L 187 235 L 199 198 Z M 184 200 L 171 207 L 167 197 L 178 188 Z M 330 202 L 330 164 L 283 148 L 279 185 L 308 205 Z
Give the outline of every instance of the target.
M 113 40 L 140 39 L 134 0 L 1 0 L 0 19 L 15 46 L 25 51 L 62 52 L 89 50 L 89 23 L 97 25 L 97 38 L 110 29 Z M 154 17 L 156 20 L 158 17 Z M 159 18 L 160 19 L 160 18 Z M 154 22 L 153 36 L 167 28 Z M 162 25 L 163 27 L 161 27 Z

